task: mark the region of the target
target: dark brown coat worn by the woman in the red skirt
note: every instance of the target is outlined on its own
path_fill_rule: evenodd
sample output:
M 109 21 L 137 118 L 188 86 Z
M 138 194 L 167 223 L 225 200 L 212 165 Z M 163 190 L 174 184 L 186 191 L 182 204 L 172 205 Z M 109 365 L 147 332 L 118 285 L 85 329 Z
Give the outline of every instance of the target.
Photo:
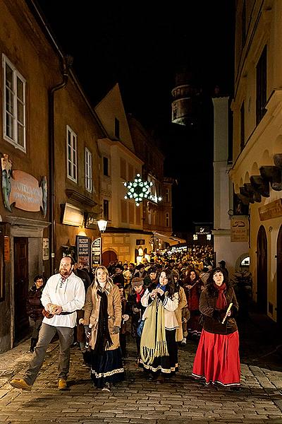
M 216 309 L 216 295 L 211 295 L 207 288 L 204 288 L 200 297 L 200 312 L 203 317 L 203 329 L 213 334 L 231 334 L 237 330 L 234 316 L 238 312 L 238 302 L 233 288 L 228 288 L 225 292 L 227 307 L 232 302 L 231 317 L 227 317 L 224 324 L 221 324 L 226 310 Z

